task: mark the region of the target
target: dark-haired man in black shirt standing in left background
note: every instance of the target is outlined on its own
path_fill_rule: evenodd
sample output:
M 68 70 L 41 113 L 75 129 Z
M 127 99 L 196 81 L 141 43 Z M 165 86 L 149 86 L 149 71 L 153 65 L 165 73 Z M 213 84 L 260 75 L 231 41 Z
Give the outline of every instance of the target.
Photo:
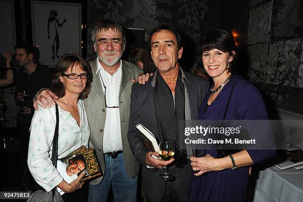
M 19 106 L 17 129 L 21 139 L 22 163 L 26 165 L 29 128 L 34 114 L 33 97 L 41 88 L 51 87 L 51 70 L 39 63 L 39 50 L 31 44 L 15 47 L 21 68 L 15 74 L 15 103 Z M 26 96 L 26 97 L 25 97 Z

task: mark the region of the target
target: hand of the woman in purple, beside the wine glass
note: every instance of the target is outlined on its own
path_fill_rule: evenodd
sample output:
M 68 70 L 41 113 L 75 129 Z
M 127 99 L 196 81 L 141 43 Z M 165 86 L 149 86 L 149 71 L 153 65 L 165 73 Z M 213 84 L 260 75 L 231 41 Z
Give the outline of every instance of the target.
M 194 173 L 195 176 L 202 175 L 205 172 L 218 171 L 219 168 L 219 158 L 214 158 L 210 154 L 205 155 L 204 157 L 191 157 L 191 165 L 194 171 L 199 171 Z

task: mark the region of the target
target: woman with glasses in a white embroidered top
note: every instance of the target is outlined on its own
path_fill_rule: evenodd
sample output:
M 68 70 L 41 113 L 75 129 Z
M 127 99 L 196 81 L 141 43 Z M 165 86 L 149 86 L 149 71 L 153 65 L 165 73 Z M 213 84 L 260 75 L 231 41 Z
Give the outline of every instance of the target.
M 90 65 L 77 54 L 62 56 L 53 71 L 52 91 L 59 97 L 56 100 L 59 109 L 58 158 L 65 157 L 82 145 L 88 147 L 90 128 L 82 99 L 88 97 L 92 81 Z M 34 113 L 27 160 L 29 170 L 46 191 L 57 187 L 69 193 L 62 195 L 64 201 L 87 201 L 88 186 L 80 183 L 84 172 L 70 182 L 63 179 L 52 165 L 50 156 L 56 125 L 55 111 L 56 107 L 39 107 Z

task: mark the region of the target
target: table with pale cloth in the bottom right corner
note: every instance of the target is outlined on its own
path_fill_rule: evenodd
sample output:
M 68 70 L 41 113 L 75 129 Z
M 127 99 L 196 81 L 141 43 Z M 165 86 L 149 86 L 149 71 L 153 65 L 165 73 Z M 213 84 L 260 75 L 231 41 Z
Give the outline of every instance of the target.
M 258 173 L 253 202 L 303 202 L 303 169 L 267 165 Z

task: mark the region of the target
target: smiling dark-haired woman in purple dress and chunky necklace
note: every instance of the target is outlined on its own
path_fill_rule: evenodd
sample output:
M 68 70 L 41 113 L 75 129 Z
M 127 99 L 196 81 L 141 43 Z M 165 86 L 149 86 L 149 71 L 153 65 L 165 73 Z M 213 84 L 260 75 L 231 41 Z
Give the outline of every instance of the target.
M 213 85 L 200 107 L 200 119 L 267 120 L 259 91 L 241 76 L 233 74 L 237 48 L 231 33 L 211 30 L 202 42 L 201 51 L 203 66 L 212 77 Z M 264 127 L 267 123 L 262 121 L 263 127 L 247 127 L 250 137 L 257 143 L 273 141 L 270 127 Z M 223 155 L 214 146 L 212 149 L 207 147 L 205 156 L 191 157 L 193 170 L 197 171 L 191 182 L 191 202 L 244 202 L 249 165 L 275 155 L 275 150 L 258 144 L 245 150 L 225 151 Z

